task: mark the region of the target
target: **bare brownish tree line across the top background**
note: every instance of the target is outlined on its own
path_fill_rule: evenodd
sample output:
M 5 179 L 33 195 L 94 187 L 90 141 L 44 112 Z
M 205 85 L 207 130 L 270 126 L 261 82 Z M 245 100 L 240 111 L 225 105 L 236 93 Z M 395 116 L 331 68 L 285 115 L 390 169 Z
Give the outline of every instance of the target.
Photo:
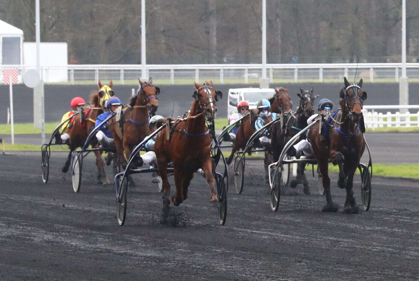
M 261 0 L 146 0 L 147 64 L 261 63 Z M 266 0 L 268 63 L 401 62 L 401 0 Z M 407 61 L 419 62 L 419 1 L 406 0 Z M 75 64 L 141 63 L 140 0 L 41 0 L 41 42 Z M 35 41 L 35 0 L 0 19 Z

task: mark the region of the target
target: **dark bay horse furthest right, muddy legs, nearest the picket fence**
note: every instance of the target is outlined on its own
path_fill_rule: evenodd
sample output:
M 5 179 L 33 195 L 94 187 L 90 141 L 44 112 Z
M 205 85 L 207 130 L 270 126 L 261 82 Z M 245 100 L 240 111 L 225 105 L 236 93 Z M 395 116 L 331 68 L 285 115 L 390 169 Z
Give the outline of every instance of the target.
M 353 178 L 361 156 L 365 149 L 364 125 L 362 118 L 362 105 L 367 99 L 367 93 L 362 91 L 362 79 L 358 84 L 351 84 L 344 78 L 345 86 L 339 92 L 341 111 L 334 117 L 329 117 L 328 140 L 322 142 L 319 134 L 319 122 L 310 128 L 309 138 L 318 167 L 323 177 L 323 187 L 326 195 L 326 206 L 323 211 L 336 212 L 338 207 L 333 203 L 330 193 L 330 178 L 328 177 L 328 162 L 339 165 L 338 186 L 346 188 L 345 212 L 357 213 L 354 192 L 352 190 Z

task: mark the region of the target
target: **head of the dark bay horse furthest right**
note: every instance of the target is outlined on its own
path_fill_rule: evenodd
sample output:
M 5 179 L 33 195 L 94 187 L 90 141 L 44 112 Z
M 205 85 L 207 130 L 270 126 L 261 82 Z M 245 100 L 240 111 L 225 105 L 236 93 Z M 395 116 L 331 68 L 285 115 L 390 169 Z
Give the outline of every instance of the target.
M 362 117 L 362 106 L 365 99 L 367 99 L 367 93 L 362 91 L 362 79 L 355 83 L 349 83 L 346 77 L 344 77 L 345 86 L 341 88 L 339 92 L 339 104 L 342 108 L 342 113 L 346 113 L 350 116 L 352 122 L 358 124 Z

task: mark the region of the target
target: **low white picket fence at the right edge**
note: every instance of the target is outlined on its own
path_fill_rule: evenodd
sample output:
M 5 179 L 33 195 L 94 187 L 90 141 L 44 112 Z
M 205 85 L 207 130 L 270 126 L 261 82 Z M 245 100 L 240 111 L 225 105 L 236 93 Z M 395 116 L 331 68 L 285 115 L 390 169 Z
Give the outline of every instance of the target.
M 396 113 L 385 109 L 399 109 Z M 403 113 L 401 113 L 403 112 Z M 419 127 L 419 105 L 365 105 L 362 109 L 365 127 Z

